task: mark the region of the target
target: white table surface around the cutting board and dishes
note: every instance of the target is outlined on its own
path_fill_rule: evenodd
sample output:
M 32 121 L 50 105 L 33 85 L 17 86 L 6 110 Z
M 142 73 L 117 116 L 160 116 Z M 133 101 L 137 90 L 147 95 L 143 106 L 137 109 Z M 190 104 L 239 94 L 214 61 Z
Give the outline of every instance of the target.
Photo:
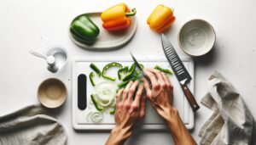
M 105 53 L 83 50 L 68 37 L 70 21 L 78 14 L 100 11 L 122 1 L 100 0 L 0 0 L 0 115 L 38 103 L 38 84 L 46 78 L 57 77 L 67 85 L 71 94 L 71 60 L 87 56 L 159 56 L 164 53 L 160 36 L 150 31 L 146 20 L 157 4 L 175 9 L 177 20 L 166 33 L 180 55 L 185 55 L 177 45 L 177 32 L 187 20 L 201 18 L 209 21 L 217 33 L 217 42 L 211 53 L 195 59 L 195 97 L 199 102 L 207 92 L 207 78 L 214 70 L 225 75 L 241 92 L 248 108 L 256 116 L 256 1 L 254 0 L 178 0 L 178 1 L 126 1 L 137 8 L 137 34 L 125 47 Z M 47 47 L 59 44 L 67 48 L 69 63 L 61 72 L 51 74 L 42 59 L 28 53 L 29 49 L 45 52 Z M 175 86 L 174 86 L 175 87 Z M 77 132 L 71 124 L 71 96 L 65 105 L 55 110 L 64 125 L 67 144 L 103 144 L 109 132 Z M 203 107 L 195 115 L 195 130 L 191 131 L 197 142 L 201 125 L 212 114 Z M 127 144 L 171 144 L 168 132 L 139 131 Z

